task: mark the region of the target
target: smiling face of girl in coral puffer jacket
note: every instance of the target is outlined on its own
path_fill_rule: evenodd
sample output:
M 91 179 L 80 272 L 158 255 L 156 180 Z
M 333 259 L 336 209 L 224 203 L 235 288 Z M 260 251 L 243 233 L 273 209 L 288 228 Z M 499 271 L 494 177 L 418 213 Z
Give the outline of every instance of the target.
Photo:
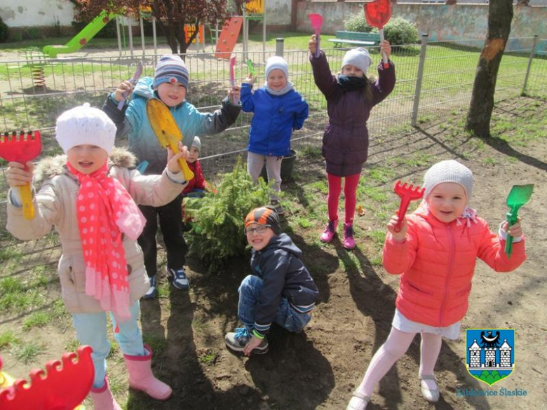
M 429 212 L 441 222 L 450 223 L 464 212 L 466 190 L 456 182 L 443 182 L 433 188 L 427 197 Z

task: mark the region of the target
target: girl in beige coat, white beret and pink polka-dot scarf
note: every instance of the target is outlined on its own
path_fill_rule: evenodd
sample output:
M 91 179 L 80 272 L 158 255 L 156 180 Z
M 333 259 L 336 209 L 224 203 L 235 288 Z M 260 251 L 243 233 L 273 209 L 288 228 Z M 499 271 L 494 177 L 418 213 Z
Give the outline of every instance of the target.
M 18 189 L 32 184 L 34 166 L 8 163 L 7 229 L 24 240 L 41 238 L 52 228 L 59 233 L 61 295 L 80 343 L 93 348 L 90 396 L 95 409 L 121 408 L 106 376 L 107 312 L 130 387 L 166 400 L 171 388 L 153 376 L 152 351 L 143 344 L 137 322 L 139 299 L 149 289 L 137 245 L 145 220 L 137 205 L 162 206 L 180 196 L 187 182 L 178 161 L 187 158 L 187 149 L 181 144 L 177 155 L 169 150 L 161 175 L 140 175 L 129 169 L 135 167 L 135 157 L 114 148 L 116 125 L 89 104 L 62 113 L 55 134 L 65 155 L 44 158 L 36 166 L 34 182 L 41 189 L 34 195 L 34 219 L 25 219 Z

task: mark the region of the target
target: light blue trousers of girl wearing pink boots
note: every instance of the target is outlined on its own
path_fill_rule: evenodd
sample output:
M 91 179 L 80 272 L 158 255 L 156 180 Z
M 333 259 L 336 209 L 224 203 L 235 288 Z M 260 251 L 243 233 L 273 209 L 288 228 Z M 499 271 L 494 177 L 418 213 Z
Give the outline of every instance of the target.
M 121 351 L 130 356 L 144 356 L 142 334 L 140 333 L 137 320 L 140 313 L 139 302 L 135 302 L 129 308 L 130 320 L 119 323 L 119 333 L 114 332 Z M 110 313 L 112 326 L 116 329 L 116 319 Z M 95 367 L 95 378 L 93 388 L 101 388 L 104 385 L 104 376 L 107 374 L 107 356 L 110 353 L 110 343 L 107 336 L 107 314 L 100 313 L 74 313 L 72 315 L 76 337 L 82 345 L 89 345 L 93 348 L 91 359 Z

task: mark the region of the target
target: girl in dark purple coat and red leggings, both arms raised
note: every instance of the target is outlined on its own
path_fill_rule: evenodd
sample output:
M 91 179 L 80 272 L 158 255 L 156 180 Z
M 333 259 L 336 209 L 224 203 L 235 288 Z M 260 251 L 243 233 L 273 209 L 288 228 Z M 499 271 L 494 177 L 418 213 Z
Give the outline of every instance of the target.
M 332 75 L 325 51 L 316 57 L 315 34 L 309 40 L 309 60 L 316 85 L 327 99 L 329 123 L 323 135 L 323 156 L 325 157 L 328 196 L 328 221 L 322 242 L 330 242 L 337 233 L 338 200 L 342 193 L 344 179 L 344 238 L 342 245 L 347 250 L 356 247 L 353 238 L 353 217 L 356 209 L 357 186 L 363 164 L 368 156 L 367 120 L 374 105 L 386 98 L 395 87 L 395 66 L 389 61 L 388 67 L 378 65 L 378 79 L 370 82 L 367 69 L 372 59 L 365 48 L 349 50 L 342 60 L 339 75 Z M 381 51 L 389 57 L 391 46 L 383 41 Z

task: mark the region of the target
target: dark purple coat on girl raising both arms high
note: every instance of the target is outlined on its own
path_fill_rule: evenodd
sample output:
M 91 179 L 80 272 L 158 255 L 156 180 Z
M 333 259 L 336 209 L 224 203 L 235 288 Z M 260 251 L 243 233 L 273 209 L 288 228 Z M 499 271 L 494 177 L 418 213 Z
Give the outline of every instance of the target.
M 323 156 L 327 173 L 338 177 L 360 174 L 368 155 L 367 120 L 374 105 L 384 100 L 395 86 L 395 66 L 378 66 L 378 79 L 372 83 L 372 100 L 363 90 L 343 90 L 333 76 L 323 51 L 310 54 L 313 77 L 327 99 L 329 122 L 323 134 Z

